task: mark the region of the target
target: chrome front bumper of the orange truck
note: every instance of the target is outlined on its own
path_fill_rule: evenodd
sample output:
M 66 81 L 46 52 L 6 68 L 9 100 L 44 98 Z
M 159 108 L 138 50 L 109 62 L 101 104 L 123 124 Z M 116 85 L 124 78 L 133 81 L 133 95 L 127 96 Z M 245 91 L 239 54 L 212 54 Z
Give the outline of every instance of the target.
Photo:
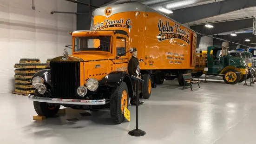
M 37 102 L 53 103 L 53 104 L 70 104 L 70 105 L 105 105 L 105 99 L 99 100 L 80 100 L 80 99 L 61 99 L 61 98 L 43 98 L 28 96 L 30 100 Z

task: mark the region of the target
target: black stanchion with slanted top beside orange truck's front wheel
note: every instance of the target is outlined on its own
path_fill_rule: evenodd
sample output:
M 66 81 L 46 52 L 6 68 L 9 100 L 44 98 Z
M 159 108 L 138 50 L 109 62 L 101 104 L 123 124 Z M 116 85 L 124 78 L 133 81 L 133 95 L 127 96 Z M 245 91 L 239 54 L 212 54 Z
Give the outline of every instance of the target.
M 138 129 L 138 84 L 139 84 L 139 82 L 144 83 L 144 80 L 138 79 L 134 76 L 131 76 L 131 79 L 137 80 L 137 85 L 136 85 L 136 129 L 129 131 L 128 134 L 131 136 L 134 136 L 134 137 L 140 137 L 140 136 L 144 136 L 146 134 L 145 131 Z

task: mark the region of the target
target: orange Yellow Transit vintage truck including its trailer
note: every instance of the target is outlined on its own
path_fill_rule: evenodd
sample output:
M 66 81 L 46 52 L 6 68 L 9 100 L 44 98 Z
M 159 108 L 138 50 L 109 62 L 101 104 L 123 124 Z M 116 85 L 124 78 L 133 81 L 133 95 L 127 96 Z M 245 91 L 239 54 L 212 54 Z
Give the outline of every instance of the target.
M 115 123 L 124 121 L 128 97 L 134 92 L 127 65 L 136 47 L 144 85 L 178 78 L 194 69 L 196 33 L 140 3 L 101 7 L 93 12 L 92 30 L 72 33 L 72 55 L 52 59 L 50 70 L 36 73 L 36 92 L 29 98 L 39 115 L 51 117 L 60 105 L 91 110 L 110 107 Z

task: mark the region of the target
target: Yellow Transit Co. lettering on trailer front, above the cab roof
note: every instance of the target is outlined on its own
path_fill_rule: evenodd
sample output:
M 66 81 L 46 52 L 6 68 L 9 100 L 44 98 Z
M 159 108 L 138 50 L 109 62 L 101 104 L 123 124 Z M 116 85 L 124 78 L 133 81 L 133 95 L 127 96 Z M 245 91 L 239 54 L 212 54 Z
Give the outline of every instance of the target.
M 131 19 L 120 19 L 120 20 L 104 20 L 104 22 L 97 22 L 94 24 L 94 30 L 102 30 L 109 27 L 123 27 L 131 28 Z

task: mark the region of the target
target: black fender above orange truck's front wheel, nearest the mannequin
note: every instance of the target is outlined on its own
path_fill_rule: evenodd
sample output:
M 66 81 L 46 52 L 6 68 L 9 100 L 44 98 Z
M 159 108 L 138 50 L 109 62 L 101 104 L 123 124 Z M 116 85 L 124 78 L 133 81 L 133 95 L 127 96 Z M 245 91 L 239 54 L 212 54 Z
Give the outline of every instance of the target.
M 121 85 L 123 81 L 126 83 L 128 87 L 129 97 L 134 97 L 131 77 L 126 71 L 110 72 L 108 75 L 106 75 L 104 78 L 98 81 L 98 85 L 108 86 L 108 87 L 117 87 Z

